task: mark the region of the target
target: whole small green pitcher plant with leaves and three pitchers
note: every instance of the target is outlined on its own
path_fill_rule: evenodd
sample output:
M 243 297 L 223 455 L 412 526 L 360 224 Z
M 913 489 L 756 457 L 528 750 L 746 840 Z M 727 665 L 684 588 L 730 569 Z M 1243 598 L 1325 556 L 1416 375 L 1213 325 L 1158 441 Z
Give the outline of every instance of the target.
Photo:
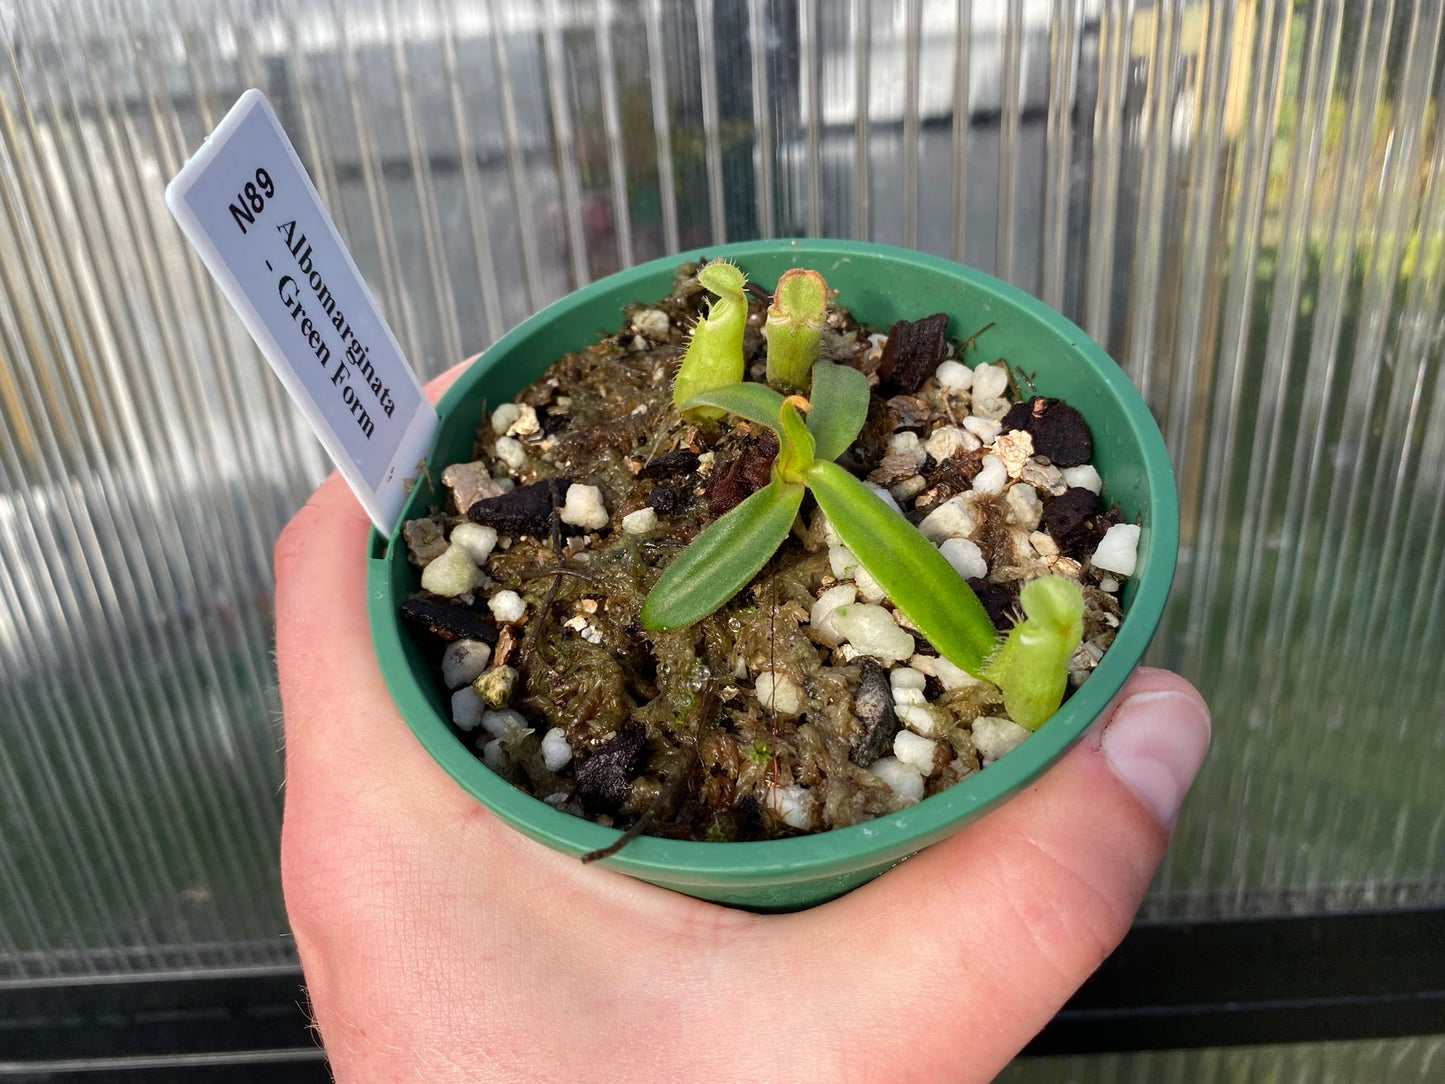
M 1084 594 L 1066 577 L 1025 585 L 1023 610 L 1000 637 L 987 610 L 948 559 L 894 507 L 835 460 L 858 438 L 868 382 L 857 369 L 818 360 L 827 285 L 812 270 L 779 282 L 767 325 L 767 384 L 741 380 L 746 279 L 712 263 L 699 282 L 718 301 L 699 321 L 678 373 L 675 405 L 699 418 L 725 413 L 777 435 L 772 480 L 709 523 L 663 572 L 642 610 L 652 630 L 681 629 L 724 606 L 786 541 L 812 493 L 842 545 L 893 604 L 949 662 L 996 684 L 1010 717 L 1029 730 L 1059 707 L 1069 659 L 1084 633 Z M 793 392 L 809 387 L 808 397 Z

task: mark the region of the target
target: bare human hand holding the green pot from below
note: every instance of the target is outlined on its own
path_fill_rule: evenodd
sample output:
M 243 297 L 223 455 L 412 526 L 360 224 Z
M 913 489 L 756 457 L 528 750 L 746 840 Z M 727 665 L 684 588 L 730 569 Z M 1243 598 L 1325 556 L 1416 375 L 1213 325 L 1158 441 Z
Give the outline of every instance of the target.
M 551 851 L 436 766 L 376 663 L 368 526 L 332 476 L 276 545 L 282 882 L 338 1081 L 991 1080 L 1129 929 L 1208 746 L 1199 694 L 1139 671 L 977 824 L 811 911 L 731 911 Z

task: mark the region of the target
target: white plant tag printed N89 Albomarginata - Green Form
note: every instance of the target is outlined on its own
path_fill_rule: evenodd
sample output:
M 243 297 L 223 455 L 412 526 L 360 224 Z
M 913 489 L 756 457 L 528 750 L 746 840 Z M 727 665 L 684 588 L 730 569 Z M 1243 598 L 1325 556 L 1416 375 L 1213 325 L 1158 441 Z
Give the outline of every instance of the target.
M 166 205 L 390 535 L 436 410 L 264 94 L 237 100 L 166 186 Z

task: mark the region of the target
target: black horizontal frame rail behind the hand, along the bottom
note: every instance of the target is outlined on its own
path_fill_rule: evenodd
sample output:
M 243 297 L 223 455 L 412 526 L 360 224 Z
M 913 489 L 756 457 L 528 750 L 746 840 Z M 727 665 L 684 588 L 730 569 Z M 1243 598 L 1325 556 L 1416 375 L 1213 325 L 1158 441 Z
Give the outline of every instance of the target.
M 1025 1054 L 1445 1033 L 1445 906 L 1140 922 Z M 298 968 L 0 986 L 0 1084 L 328 1081 Z

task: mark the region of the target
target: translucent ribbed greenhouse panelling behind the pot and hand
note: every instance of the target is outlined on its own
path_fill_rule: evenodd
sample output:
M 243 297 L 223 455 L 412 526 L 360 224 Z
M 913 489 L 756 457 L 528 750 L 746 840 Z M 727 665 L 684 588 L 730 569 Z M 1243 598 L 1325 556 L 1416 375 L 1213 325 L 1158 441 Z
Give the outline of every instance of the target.
M 1144 918 L 1438 913 L 1442 72 L 1442 0 L 0 0 L 0 990 L 295 976 L 270 548 L 327 464 L 162 199 L 247 87 L 423 376 L 756 237 L 1059 308 L 1169 444 L 1152 662 L 1215 713 Z M 1426 1081 L 1445 1039 L 1007 1078 Z

